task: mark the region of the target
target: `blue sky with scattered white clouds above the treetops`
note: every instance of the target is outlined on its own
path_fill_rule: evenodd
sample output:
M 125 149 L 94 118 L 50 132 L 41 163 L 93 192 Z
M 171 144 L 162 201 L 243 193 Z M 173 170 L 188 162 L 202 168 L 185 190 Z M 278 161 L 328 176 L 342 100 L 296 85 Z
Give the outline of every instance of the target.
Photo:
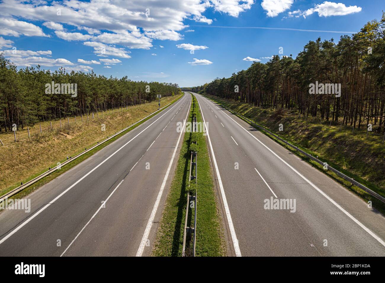
M 338 41 L 380 19 L 384 6 L 383 0 L 3 0 L 0 50 L 18 67 L 195 86 L 253 60 L 267 62 L 280 47 L 280 55 L 295 57 L 309 40 Z

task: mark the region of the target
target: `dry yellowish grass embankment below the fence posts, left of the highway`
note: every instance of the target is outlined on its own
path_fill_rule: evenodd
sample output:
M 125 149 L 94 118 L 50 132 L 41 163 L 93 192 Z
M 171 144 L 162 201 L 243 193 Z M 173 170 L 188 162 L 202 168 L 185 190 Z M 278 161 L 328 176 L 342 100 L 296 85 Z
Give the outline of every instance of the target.
M 170 102 L 175 102 L 181 97 L 182 94 L 164 97 L 161 99 L 161 107 Z M 30 127 L 30 138 L 28 138 L 26 128 L 23 130 L 18 129 L 18 142 L 14 141 L 13 132 L 0 134 L 0 139 L 5 145 L 1 146 L 0 144 L 0 195 L 16 188 L 20 185 L 20 182 L 25 183 L 39 176 L 47 171 L 49 167 L 57 166 L 57 162 L 64 162 L 67 156 L 75 156 L 84 151 L 85 148 L 94 146 L 107 136 L 111 136 L 115 132 L 143 119 L 157 109 L 158 102 L 156 100 L 151 103 L 128 107 L 128 109 L 120 109 L 120 111 L 115 109 L 113 113 L 107 111 L 102 114 L 102 112 L 99 112 L 99 118 L 94 114 L 95 119 L 89 117 L 89 121 L 87 121 L 87 117 L 83 117 L 83 123 L 81 117 L 77 117 L 76 124 L 75 118 L 71 117 L 69 126 L 67 120 L 62 119 L 62 129 L 60 129 L 59 121 L 52 121 L 52 131 L 50 130 L 50 122 L 42 122 L 42 133 L 40 133 L 40 127 L 37 124 Z M 101 124 L 105 124 L 105 131 L 101 131 Z M 46 178 L 33 184 L 33 186 L 15 194 L 13 198 L 26 196 L 34 189 L 79 164 L 140 124 L 138 123 L 117 137 L 87 152 L 87 154 L 63 166 L 59 171 L 51 173 Z

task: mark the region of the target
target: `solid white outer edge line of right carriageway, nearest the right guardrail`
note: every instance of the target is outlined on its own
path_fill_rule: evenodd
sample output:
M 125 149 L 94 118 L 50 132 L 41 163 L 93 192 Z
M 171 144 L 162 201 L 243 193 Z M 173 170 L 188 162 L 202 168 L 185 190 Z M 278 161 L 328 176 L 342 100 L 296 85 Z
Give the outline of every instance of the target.
M 211 101 L 210 101 L 211 102 Z M 214 106 L 216 106 L 213 102 L 211 102 Z M 218 109 L 219 107 L 216 106 Z M 225 110 L 225 109 L 219 109 L 219 110 Z M 229 117 L 231 120 L 233 120 L 236 124 L 238 124 L 238 122 L 236 122 L 233 118 L 231 118 L 230 116 L 228 116 L 224 111 L 221 111 L 223 114 L 225 114 L 227 117 Z M 355 223 L 357 223 L 362 229 L 364 229 L 365 231 L 367 231 L 370 236 L 372 236 L 373 238 L 375 238 L 380 244 L 382 244 L 383 246 L 385 246 L 385 242 L 380 238 L 378 237 L 375 233 L 372 232 L 372 230 L 370 230 L 369 228 L 367 228 L 364 224 L 362 224 L 360 221 L 357 220 L 357 218 L 355 218 L 352 214 L 348 213 L 345 209 L 343 209 L 338 203 L 336 203 L 332 198 L 330 198 L 330 196 L 328 196 L 327 194 L 325 194 L 323 191 L 321 191 L 321 189 L 319 189 L 315 184 L 313 184 L 310 180 L 308 180 L 305 176 L 303 176 L 300 172 L 298 172 L 294 167 L 292 167 L 290 164 L 288 164 L 288 162 L 286 162 L 285 160 L 283 160 L 280 156 L 278 156 L 278 154 L 276 154 L 274 151 L 272 151 L 268 146 L 266 146 L 263 142 L 259 141 L 259 139 L 257 139 L 253 134 L 251 134 L 251 132 L 249 132 L 248 130 L 246 130 L 244 127 L 242 127 L 240 124 L 238 124 L 239 127 L 241 127 L 242 129 L 244 129 L 248 134 L 250 134 L 250 136 L 252 136 L 254 139 L 256 139 L 260 144 L 262 144 L 264 147 L 266 147 L 266 149 L 268 149 L 271 153 L 273 153 L 276 157 L 278 157 L 278 159 L 280 159 L 283 163 L 285 163 L 288 167 L 290 167 L 290 169 L 292 169 L 294 172 L 296 172 L 298 174 L 298 176 L 300 176 L 302 179 L 304 179 L 308 184 L 310 184 L 310 186 L 312 186 L 313 188 L 315 188 L 320 194 L 322 194 L 326 199 L 328 199 L 331 203 L 333 203 L 338 209 L 340 209 L 343 213 L 346 214 L 346 216 L 348 216 L 350 219 L 352 219 Z

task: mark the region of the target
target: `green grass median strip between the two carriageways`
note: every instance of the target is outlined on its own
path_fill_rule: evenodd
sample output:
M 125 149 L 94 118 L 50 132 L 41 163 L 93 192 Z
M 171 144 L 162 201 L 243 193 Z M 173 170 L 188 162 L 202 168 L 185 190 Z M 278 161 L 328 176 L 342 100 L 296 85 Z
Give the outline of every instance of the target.
M 192 112 L 196 110 L 197 122 L 202 122 L 198 102 L 196 102 L 195 97 L 193 99 L 195 100 L 195 108 L 194 102 L 192 102 L 187 121 L 192 122 Z M 182 256 L 190 151 L 193 140 L 196 140 L 198 144 L 196 256 L 225 256 L 227 253 L 227 243 L 224 238 L 223 221 L 214 190 L 213 171 L 210 165 L 206 136 L 203 136 L 203 133 L 186 132 L 157 231 L 152 250 L 153 256 Z

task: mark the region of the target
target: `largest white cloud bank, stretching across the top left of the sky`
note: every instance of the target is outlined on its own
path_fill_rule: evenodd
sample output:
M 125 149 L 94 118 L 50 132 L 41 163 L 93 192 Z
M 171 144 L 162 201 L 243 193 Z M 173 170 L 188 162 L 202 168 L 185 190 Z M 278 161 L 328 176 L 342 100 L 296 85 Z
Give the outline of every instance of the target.
M 228 1 L 226 0 L 226 2 Z M 250 1 L 246 0 L 246 2 Z M 216 9 L 225 12 L 226 6 L 221 5 L 223 1 L 216 2 L 218 2 Z M 231 0 L 231 2 L 233 1 Z M 245 1 L 235 1 L 235 3 L 238 2 Z M 196 17 L 197 20 L 205 21 L 206 18 L 202 13 L 211 6 L 208 0 L 94 0 L 89 2 L 2 0 L 0 10 L 2 15 L 7 17 L 16 16 L 27 20 L 60 22 L 76 27 L 87 27 L 90 28 L 89 33 L 94 34 L 96 30 L 121 33 L 126 30 L 139 31 L 139 28 L 145 32 L 179 31 L 186 27 L 183 23 L 186 18 Z M 57 16 L 58 8 L 61 10 L 59 17 Z M 149 16 L 146 15 L 146 8 L 150 9 Z

